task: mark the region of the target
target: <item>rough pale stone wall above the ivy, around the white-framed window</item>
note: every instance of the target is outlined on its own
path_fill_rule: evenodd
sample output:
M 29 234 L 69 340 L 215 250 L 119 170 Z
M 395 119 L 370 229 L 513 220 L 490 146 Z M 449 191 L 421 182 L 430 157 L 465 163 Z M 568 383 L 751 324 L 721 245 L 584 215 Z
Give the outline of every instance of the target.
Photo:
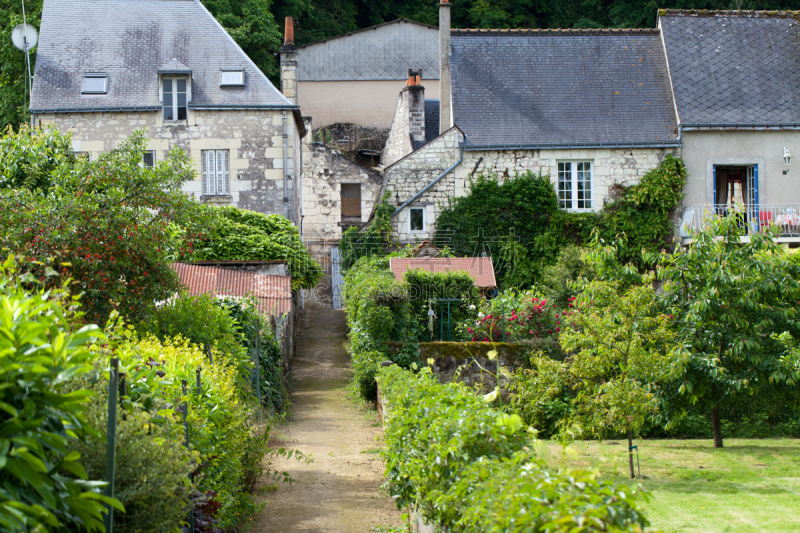
M 458 145 L 463 135 L 457 129 L 401 159 L 385 171 L 385 187 L 392 198 L 398 194 L 405 203 L 441 172 L 458 160 Z M 401 242 L 414 242 L 433 237 L 435 221 L 447 198 L 464 196 L 469 180 L 480 173 L 497 173 L 513 177 L 527 170 L 550 176 L 557 186 L 559 161 L 591 161 L 593 166 L 593 207 L 603 207 L 614 184 L 633 185 L 649 170 L 658 166 L 674 148 L 614 148 L 575 150 L 509 150 L 464 152 L 464 160 L 414 203 L 393 219 L 393 228 Z M 425 208 L 425 228 L 409 230 L 409 209 Z

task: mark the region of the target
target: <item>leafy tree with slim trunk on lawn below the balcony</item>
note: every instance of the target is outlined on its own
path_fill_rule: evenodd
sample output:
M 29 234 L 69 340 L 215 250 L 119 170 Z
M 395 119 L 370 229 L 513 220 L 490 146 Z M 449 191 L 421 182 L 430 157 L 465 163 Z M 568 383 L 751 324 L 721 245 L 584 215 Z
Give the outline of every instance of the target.
M 689 248 L 662 259 L 665 302 L 690 354 L 679 392 L 711 411 L 717 448 L 720 405 L 752 393 L 757 381 L 788 381 L 776 334 L 800 333 L 800 265 L 788 260 L 774 229 L 748 226 L 741 213 L 710 217 Z

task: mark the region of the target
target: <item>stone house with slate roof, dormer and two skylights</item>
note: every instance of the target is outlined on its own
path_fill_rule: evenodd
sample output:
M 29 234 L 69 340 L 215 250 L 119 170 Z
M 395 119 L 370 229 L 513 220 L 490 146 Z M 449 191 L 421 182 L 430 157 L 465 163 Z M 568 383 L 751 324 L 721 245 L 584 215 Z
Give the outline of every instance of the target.
M 299 225 L 299 107 L 197 0 L 45 0 L 31 115 L 89 157 L 144 130 L 142 163 L 182 148 L 199 201 Z

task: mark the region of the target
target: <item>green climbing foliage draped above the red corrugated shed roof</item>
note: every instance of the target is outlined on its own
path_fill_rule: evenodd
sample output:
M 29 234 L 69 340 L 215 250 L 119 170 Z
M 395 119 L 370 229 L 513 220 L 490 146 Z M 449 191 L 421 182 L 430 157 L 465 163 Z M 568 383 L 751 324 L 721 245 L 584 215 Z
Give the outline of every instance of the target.
M 281 215 L 231 206 L 198 209 L 204 217 L 186 229 L 181 260 L 286 261 L 293 289 L 313 289 L 322 277 L 300 232 Z

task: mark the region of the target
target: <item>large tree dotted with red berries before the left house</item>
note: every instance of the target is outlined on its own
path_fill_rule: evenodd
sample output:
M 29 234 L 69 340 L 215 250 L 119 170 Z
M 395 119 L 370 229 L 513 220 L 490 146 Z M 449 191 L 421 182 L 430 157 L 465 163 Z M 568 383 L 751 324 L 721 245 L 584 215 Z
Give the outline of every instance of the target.
M 178 288 L 169 228 L 197 213 L 181 190 L 189 159 L 176 149 L 144 168 L 142 132 L 96 161 L 76 158 L 70 143 L 27 126 L 0 140 L 0 248 L 48 286 L 56 274 L 72 278 L 89 322 L 113 309 L 136 319 Z

